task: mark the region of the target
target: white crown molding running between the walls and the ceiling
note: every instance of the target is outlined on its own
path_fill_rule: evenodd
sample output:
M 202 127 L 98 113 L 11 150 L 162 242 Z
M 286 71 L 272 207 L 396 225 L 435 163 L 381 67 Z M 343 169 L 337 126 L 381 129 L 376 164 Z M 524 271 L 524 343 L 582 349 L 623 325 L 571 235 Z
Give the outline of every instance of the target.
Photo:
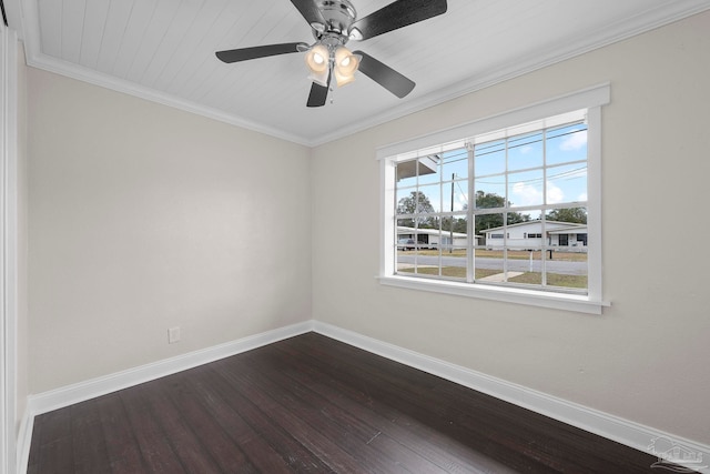
M 499 82 L 527 74 L 710 9 L 709 0 L 666 2 L 660 7 L 639 13 L 630 20 L 626 19 L 623 21 L 611 23 L 607 26 L 607 28 L 600 29 L 595 34 L 587 36 L 579 41 L 560 44 L 560 47 L 555 50 L 538 51 L 536 54 L 526 54 L 525 58 L 518 58 L 515 61 L 509 61 L 486 72 L 485 74 L 479 74 L 467 80 L 453 83 L 446 89 L 406 101 L 402 103 L 402 105 L 371 115 L 367 120 L 354 122 L 349 127 L 341 127 L 333 132 L 320 134 L 314 139 L 306 135 L 295 135 L 270 127 L 268 124 L 250 121 L 243 117 L 207 108 L 172 94 L 159 92 L 130 81 L 118 79 L 109 74 L 103 74 L 78 64 L 49 57 L 40 51 L 37 0 L 9 0 L 9 3 L 20 3 L 21 6 L 21 17 L 23 21 L 20 21 L 22 23 L 20 38 L 24 41 L 28 65 L 312 148 L 362 132 L 366 129 L 381 125 L 415 112 L 419 112 L 424 109 L 438 105 L 462 95 L 486 89 Z M 14 11 L 16 9 L 17 7 L 8 9 L 12 12 L 13 17 L 17 17 Z

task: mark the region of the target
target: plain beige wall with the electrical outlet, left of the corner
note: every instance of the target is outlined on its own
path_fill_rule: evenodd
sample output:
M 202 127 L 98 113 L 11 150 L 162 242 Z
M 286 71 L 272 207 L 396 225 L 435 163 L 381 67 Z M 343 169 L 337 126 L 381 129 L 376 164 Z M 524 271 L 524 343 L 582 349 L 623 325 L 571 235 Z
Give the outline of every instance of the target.
M 310 320 L 310 149 L 27 81 L 31 393 Z

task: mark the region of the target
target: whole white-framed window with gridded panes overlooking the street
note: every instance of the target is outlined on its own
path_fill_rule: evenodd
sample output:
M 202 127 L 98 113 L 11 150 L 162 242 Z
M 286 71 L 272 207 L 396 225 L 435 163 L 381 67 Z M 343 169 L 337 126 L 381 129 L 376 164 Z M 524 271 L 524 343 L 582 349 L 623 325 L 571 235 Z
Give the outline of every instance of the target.
M 608 100 L 602 85 L 379 150 L 381 282 L 600 313 Z

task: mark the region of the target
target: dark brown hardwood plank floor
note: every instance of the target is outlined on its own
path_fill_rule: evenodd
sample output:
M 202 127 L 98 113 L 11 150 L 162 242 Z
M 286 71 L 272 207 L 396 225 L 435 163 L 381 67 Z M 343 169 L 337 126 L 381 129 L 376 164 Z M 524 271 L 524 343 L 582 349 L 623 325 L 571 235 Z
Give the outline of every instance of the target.
M 648 473 L 656 461 L 308 333 L 40 415 L 28 473 Z

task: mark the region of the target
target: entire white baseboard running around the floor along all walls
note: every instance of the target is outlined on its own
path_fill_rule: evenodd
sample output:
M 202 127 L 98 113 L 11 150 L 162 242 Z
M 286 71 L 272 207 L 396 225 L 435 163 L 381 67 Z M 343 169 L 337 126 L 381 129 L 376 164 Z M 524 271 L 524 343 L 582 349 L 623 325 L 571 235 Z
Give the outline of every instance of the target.
M 708 467 L 708 464 L 710 464 L 710 446 L 708 445 L 686 440 L 670 433 L 665 433 L 660 430 L 623 420 L 598 410 L 571 403 L 556 396 L 534 391 L 523 385 L 506 382 L 470 369 L 450 364 L 438 359 L 429 357 L 407 349 L 318 321 L 307 321 L 267 331 L 265 333 L 216 345 L 214 347 L 195 351 L 178 357 L 168 359 L 29 396 L 28 413 L 22 421 L 22 427 L 20 430 L 18 441 L 18 462 L 20 463 L 18 473 L 27 471 L 30 442 L 32 438 L 32 426 L 34 416 L 37 415 L 217 361 L 220 359 L 229 357 L 310 331 L 315 331 L 320 334 L 354 345 L 367 352 L 372 352 L 405 365 L 440 376 L 469 389 L 582 428 L 590 433 L 613 440 L 645 453 L 656 454 L 652 451 L 655 440 L 668 440 L 686 452 L 697 454 L 700 461 L 703 462 L 701 463 L 702 465 L 694 465 L 693 468 L 698 472 L 710 474 L 710 468 Z

